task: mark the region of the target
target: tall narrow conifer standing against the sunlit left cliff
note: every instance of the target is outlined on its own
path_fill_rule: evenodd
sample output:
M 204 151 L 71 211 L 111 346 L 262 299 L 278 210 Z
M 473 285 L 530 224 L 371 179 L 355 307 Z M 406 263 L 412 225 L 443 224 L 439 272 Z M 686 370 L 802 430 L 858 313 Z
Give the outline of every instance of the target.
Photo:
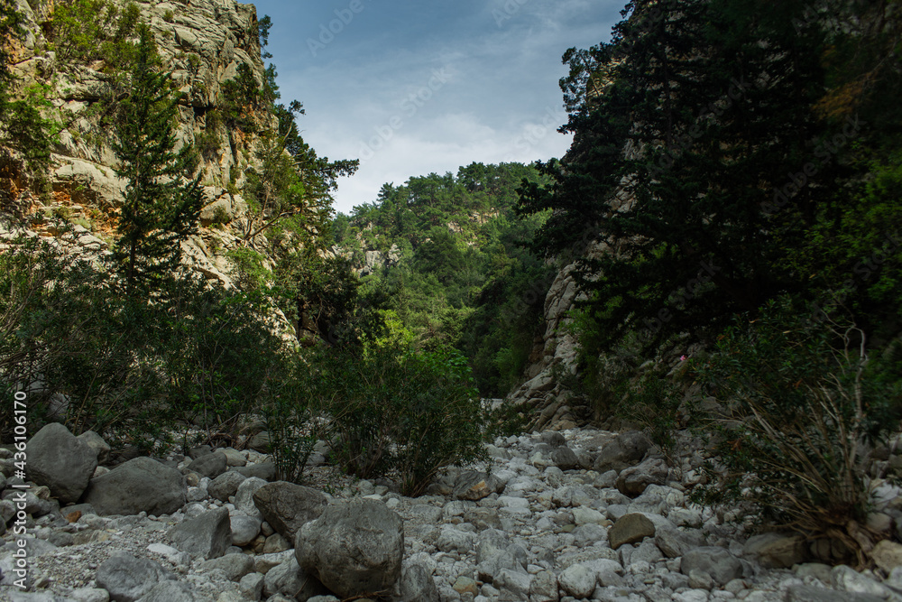
M 179 97 L 159 62 L 152 33 L 143 26 L 113 144 L 115 173 L 128 182 L 115 258 L 129 291 L 152 286 L 179 264 L 180 241 L 195 231 L 202 205 L 200 176 L 191 178 L 195 154 L 189 145 L 175 150 Z

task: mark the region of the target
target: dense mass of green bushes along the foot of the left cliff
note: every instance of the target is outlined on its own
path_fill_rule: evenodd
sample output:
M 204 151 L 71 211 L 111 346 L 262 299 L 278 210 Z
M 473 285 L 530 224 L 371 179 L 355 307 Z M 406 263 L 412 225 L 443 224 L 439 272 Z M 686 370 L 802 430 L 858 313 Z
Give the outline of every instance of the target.
M 32 428 L 57 420 L 144 445 L 188 428 L 234 440 L 244 414 L 303 399 L 262 292 L 168 278 L 148 303 L 119 284 L 108 266 L 34 239 L 0 255 L 0 382 L 31 391 Z M 0 423 L 3 436 L 11 428 Z

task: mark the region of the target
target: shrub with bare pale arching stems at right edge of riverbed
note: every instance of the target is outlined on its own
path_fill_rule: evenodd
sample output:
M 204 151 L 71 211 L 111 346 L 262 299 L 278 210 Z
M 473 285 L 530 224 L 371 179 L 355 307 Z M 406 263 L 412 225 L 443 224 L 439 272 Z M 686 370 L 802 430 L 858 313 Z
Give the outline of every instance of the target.
M 897 424 L 897 403 L 869 366 L 861 329 L 804 316 L 779 299 L 720 338 L 701 370 L 720 405 L 700 425 L 723 470 L 695 499 L 748 502 L 815 551 L 832 542 L 861 561 L 875 537 L 862 526 L 864 451 Z

